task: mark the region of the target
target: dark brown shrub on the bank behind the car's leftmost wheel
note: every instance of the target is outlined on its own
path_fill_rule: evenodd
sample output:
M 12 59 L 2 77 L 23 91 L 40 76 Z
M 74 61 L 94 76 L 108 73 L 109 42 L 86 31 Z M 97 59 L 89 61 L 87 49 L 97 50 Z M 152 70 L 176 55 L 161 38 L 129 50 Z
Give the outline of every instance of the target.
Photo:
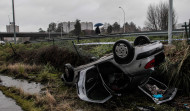
M 57 46 L 48 46 L 34 50 L 26 50 L 18 53 L 21 55 L 15 58 L 14 61 L 22 61 L 24 63 L 36 63 L 36 64 L 50 64 L 56 69 L 62 70 L 64 64 L 71 63 L 74 66 L 78 66 L 84 63 L 88 63 L 90 58 L 88 55 L 81 54 L 81 58 L 76 52 L 70 49 L 59 48 Z

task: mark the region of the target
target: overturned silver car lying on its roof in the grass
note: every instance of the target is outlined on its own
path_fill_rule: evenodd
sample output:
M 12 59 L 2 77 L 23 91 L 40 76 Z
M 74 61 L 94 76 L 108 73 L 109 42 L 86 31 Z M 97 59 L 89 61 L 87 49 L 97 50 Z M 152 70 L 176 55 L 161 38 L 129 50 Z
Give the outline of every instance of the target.
M 134 45 L 119 40 L 113 46 L 113 54 L 86 65 L 73 68 L 65 64 L 62 80 L 76 85 L 80 99 L 104 103 L 113 95 L 120 96 L 139 88 L 156 104 L 169 101 L 177 93 L 176 88 L 151 77 L 154 67 L 164 62 L 164 47 L 160 42 L 150 42 L 146 36 L 135 39 Z

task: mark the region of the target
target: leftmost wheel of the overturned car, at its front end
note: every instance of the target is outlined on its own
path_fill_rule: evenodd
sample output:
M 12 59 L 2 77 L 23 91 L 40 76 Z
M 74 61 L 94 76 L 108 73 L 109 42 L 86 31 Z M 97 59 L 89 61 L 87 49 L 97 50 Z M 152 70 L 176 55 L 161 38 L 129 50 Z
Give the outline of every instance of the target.
M 65 69 L 64 69 L 64 73 L 62 75 L 63 81 L 65 82 L 65 84 L 68 85 L 73 85 L 75 83 L 73 83 L 74 81 L 74 68 L 72 67 L 71 64 L 65 64 Z

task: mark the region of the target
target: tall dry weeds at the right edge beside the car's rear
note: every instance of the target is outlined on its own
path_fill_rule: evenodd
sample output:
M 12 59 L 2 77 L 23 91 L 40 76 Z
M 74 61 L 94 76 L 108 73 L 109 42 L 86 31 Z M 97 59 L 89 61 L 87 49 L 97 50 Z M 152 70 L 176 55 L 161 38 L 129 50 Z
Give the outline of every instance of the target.
M 166 61 L 159 67 L 163 78 L 171 87 L 182 89 L 190 96 L 190 48 L 186 41 L 174 44 L 174 49 L 165 51 Z

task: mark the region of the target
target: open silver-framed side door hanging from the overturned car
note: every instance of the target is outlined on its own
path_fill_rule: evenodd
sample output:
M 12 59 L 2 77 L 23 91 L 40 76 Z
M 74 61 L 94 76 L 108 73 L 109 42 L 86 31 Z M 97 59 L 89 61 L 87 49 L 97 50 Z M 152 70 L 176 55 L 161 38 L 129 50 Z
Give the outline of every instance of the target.
M 76 86 L 79 98 L 84 101 L 104 103 L 112 97 L 104 87 L 96 66 L 80 71 Z

